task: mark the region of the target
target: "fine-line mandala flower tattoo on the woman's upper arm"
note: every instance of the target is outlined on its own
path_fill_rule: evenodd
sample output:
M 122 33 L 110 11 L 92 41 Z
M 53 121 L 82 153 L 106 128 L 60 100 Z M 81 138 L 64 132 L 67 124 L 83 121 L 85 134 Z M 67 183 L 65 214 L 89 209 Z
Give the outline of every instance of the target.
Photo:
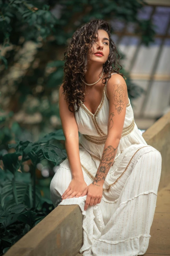
M 117 89 L 115 90 L 115 86 L 113 89 L 113 97 L 114 97 L 114 105 L 116 106 L 116 110 L 118 114 L 121 113 L 125 103 L 126 103 L 126 95 L 125 95 L 125 85 L 121 82 L 117 84 Z

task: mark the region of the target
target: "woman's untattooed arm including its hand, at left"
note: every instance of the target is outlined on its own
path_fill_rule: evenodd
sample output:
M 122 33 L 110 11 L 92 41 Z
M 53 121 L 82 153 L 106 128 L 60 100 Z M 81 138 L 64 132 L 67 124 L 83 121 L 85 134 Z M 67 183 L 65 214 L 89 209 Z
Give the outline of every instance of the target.
M 59 89 L 59 112 L 65 136 L 65 149 L 67 152 L 68 162 L 72 173 L 72 180 L 62 195 L 62 200 L 66 198 L 79 197 L 87 188 L 84 181 L 83 172 L 80 163 L 79 146 L 78 146 L 78 126 L 75 119 L 75 113 L 68 109 L 68 104 L 64 100 L 63 86 Z

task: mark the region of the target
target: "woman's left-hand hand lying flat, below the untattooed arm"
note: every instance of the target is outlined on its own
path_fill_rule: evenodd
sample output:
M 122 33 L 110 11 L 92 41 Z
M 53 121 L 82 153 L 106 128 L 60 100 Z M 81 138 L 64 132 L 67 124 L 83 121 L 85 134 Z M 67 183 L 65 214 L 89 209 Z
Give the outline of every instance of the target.
M 84 179 L 80 178 L 73 178 L 68 186 L 68 189 L 62 195 L 63 199 L 72 198 L 72 197 L 79 197 L 82 192 L 87 188 L 87 184 Z

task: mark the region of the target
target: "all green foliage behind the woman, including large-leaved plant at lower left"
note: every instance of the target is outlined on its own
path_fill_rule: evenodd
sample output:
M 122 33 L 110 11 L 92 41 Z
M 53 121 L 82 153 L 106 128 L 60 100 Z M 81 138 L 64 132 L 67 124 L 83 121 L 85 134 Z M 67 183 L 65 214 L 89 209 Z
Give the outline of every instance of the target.
M 58 89 L 72 34 L 94 18 L 115 19 L 134 24 L 149 46 L 153 24 L 137 16 L 144 5 L 143 0 L 0 0 L 0 255 L 53 209 L 49 184 L 54 167 L 66 158 Z M 143 89 L 121 71 L 130 100 L 139 97 Z

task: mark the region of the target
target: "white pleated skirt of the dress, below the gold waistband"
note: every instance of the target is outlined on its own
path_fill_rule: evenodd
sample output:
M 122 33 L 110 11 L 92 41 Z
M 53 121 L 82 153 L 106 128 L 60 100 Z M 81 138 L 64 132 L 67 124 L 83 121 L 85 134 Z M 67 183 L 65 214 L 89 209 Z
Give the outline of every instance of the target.
M 99 161 L 80 149 L 84 180 L 92 183 Z M 78 204 L 83 215 L 83 246 L 80 253 L 103 256 L 136 256 L 146 253 L 150 227 L 156 208 L 161 176 L 161 153 L 146 144 L 134 144 L 123 150 L 110 168 L 99 204 L 84 211 L 87 195 L 64 199 L 59 205 Z M 72 180 L 68 159 L 55 173 L 51 200 L 55 206 Z

